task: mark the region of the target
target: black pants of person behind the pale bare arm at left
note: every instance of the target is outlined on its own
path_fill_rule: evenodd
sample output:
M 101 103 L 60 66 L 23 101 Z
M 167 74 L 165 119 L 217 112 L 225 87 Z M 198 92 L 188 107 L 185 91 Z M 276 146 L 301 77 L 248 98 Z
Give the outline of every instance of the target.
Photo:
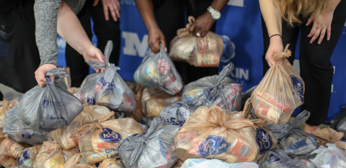
M 114 21 L 109 12 L 109 20 L 104 18 L 102 2 L 99 1 L 97 6 L 93 7 L 94 0 L 86 0 L 82 10 L 78 13 L 78 18 L 88 35 L 92 38 L 91 21 L 94 22 L 94 32 L 97 36 L 97 47 L 104 52 L 104 47 L 108 40 L 113 41 L 113 50 L 109 58 L 109 62 L 118 66 L 120 54 L 120 22 Z M 70 45 L 66 45 L 66 66 L 70 67 L 71 86 L 80 87 L 86 75 L 89 74 L 89 66 L 84 62 L 84 58 Z

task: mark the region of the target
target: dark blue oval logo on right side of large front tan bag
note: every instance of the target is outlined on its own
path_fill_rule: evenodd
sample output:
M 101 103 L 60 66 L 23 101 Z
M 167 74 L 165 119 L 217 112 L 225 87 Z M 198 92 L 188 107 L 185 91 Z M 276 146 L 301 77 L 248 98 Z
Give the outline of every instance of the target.
M 258 152 L 260 154 L 270 150 L 273 146 L 272 137 L 261 128 L 256 129 L 256 142 L 260 147 L 260 152 Z

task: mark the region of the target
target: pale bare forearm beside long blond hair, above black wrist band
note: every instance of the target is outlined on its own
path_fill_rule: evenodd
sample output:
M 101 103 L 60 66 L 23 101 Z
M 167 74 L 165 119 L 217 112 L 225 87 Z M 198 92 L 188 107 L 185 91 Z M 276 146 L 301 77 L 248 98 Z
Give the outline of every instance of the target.
M 279 9 L 277 9 L 272 0 L 259 0 L 268 35 L 282 35 L 282 17 Z

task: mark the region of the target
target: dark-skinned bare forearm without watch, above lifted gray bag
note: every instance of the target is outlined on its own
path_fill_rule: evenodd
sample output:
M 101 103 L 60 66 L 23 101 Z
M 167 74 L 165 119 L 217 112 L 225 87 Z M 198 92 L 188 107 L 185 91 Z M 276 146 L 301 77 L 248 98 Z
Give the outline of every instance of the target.
M 152 0 L 135 0 L 140 16 L 142 16 L 144 24 L 148 31 L 158 28 Z

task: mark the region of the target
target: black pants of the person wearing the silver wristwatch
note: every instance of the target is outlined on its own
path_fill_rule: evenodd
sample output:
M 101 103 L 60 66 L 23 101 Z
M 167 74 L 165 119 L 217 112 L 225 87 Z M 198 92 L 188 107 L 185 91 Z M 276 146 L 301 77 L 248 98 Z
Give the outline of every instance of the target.
M 158 27 L 165 36 L 167 49 L 171 40 L 176 36 L 176 30 L 185 27 L 185 9 L 187 15 L 197 19 L 210 6 L 213 0 L 197 0 L 192 7 L 186 0 L 153 0 L 154 14 Z M 215 32 L 215 24 L 210 31 Z M 218 67 L 194 67 L 186 62 L 174 62 L 184 84 L 196 81 L 204 76 L 218 74 Z

